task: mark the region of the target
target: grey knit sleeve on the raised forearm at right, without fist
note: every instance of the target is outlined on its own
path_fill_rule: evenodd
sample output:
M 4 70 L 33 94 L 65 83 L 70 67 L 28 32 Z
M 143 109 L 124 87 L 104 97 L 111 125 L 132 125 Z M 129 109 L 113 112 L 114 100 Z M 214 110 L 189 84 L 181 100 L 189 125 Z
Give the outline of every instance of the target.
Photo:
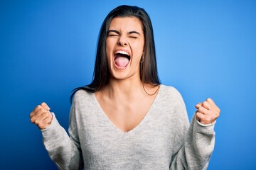
M 195 115 L 183 138 L 184 143 L 171 163 L 174 169 L 207 169 L 215 145 L 214 124 L 203 125 Z

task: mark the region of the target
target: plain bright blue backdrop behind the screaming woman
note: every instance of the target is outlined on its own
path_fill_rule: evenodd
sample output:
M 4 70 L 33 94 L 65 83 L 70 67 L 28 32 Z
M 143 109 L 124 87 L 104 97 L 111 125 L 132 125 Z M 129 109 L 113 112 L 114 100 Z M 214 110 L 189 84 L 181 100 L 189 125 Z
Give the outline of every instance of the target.
M 89 84 L 103 19 L 151 16 L 159 77 L 221 108 L 208 169 L 256 169 L 256 1 L 0 1 L 0 169 L 56 169 L 29 113 L 46 101 L 68 129 L 70 91 Z

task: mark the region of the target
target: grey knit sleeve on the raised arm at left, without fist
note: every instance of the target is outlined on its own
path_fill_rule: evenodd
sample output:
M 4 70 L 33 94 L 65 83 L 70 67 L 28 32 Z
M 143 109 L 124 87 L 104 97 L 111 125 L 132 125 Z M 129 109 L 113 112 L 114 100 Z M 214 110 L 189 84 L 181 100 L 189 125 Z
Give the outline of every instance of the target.
M 58 169 L 82 169 L 82 152 L 78 139 L 78 130 L 75 121 L 75 104 L 70 110 L 70 136 L 60 126 L 53 113 L 53 121 L 50 126 L 42 131 L 43 144 L 48 151 L 50 159 L 55 162 Z

